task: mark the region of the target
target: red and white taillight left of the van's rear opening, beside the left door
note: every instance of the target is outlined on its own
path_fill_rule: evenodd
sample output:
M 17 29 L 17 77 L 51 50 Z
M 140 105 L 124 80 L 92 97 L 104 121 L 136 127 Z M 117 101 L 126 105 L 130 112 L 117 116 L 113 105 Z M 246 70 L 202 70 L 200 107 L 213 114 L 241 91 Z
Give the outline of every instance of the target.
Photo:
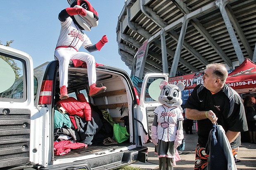
M 51 104 L 52 80 L 44 80 L 40 90 L 39 105 Z

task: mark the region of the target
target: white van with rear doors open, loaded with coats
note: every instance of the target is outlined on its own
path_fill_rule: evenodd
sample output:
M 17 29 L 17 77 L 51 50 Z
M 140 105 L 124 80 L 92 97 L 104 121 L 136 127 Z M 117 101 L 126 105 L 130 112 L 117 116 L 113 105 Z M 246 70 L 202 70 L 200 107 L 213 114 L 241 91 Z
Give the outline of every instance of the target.
M 107 91 L 90 97 L 87 95 L 87 69 L 74 67 L 70 62 L 68 94 L 76 98 L 78 93 L 83 93 L 93 114 L 97 115 L 92 124 L 100 122 L 101 126 L 97 126 L 90 136 L 92 142 L 88 147 L 56 155 L 54 143 L 59 141 L 64 131 L 55 128 L 55 112 L 58 111 L 55 106 L 59 100 L 58 67 L 57 61 L 51 61 L 33 69 L 31 56 L 0 45 L 0 169 L 108 170 L 135 161 L 147 162 L 148 151 L 144 144 L 150 142 L 148 124 L 153 119 L 149 112 L 152 113 L 159 105 L 149 100 L 147 87 L 155 79 L 167 80 L 168 75 L 146 75 L 139 99 L 136 88 L 124 70 L 100 65 L 96 68 L 97 85 L 106 86 Z M 126 126 L 128 140 L 106 142 L 105 139 L 111 138 L 109 134 L 113 133 L 111 128 L 107 129 L 111 126 L 102 119 L 101 114 L 106 111 L 113 121 Z M 83 122 L 83 126 L 87 126 L 87 123 Z M 70 129 L 74 130 L 72 127 Z M 81 138 L 80 132 L 77 133 Z M 80 143 L 81 140 L 77 139 L 76 142 Z

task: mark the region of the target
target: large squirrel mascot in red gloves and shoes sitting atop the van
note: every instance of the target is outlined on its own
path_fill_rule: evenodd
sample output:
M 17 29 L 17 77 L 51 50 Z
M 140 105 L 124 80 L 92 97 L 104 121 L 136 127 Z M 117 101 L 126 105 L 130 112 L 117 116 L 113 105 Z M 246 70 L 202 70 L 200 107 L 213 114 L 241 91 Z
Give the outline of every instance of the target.
M 98 13 L 87 0 L 68 0 L 70 7 L 63 9 L 59 13 L 61 30 L 57 46 L 55 48 L 55 60 L 59 61 L 59 87 L 60 99 L 69 98 L 68 68 L 69 61 L 78 59 L 86 63 L 88 70 L 88 81 L 90 85 L 90 96 L 97 95 L 106 90 L 105 86 L 96 87 L 95 58 L 86 52 L 78 52 L 83 46 L 87 51 L 100 51 L 108 42 L 107 36 L 96 44 L 92 45 L 89 37 L 83 30 L 90 31 L 92 27 L 98 25 Z

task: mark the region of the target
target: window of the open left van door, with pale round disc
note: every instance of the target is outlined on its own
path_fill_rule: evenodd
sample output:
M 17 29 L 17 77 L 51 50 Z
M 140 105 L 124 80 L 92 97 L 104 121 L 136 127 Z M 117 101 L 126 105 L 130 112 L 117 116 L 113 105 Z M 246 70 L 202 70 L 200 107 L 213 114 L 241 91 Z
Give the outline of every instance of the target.
M 0 53 L 0 100 L 26 101 L 26 62 Z

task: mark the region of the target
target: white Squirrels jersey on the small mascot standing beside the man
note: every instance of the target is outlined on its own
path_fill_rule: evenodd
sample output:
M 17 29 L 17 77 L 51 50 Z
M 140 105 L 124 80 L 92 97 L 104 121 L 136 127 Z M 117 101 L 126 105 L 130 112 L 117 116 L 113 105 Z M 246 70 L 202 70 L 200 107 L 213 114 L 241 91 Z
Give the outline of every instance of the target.
M 160 105 L 154 110 L 157 115 L 157 136 L 165 142 L 175 141 L 178 120 L 183 120 L 179 107 Z

